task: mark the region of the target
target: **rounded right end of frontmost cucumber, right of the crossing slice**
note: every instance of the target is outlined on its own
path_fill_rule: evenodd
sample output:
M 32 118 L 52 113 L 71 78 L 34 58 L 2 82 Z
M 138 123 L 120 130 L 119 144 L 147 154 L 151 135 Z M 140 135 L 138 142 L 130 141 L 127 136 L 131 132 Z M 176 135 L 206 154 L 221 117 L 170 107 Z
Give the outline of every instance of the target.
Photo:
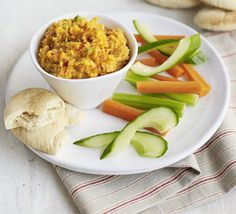
M 168 149 L 168 143 L 164 138 L 148 132 L 136 132 L 131 145 L 140 156 L 151 158 L 163 156 Z

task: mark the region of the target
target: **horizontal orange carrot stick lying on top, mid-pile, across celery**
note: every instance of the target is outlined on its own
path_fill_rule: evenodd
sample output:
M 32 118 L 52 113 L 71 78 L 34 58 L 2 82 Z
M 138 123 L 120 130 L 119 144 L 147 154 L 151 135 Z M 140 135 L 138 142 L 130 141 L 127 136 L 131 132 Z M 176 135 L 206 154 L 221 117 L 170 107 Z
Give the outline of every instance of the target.
M 195 81 L 138 81 L 137 89 L 141 93 L 195 93 L 199 94 L 201 87 Z

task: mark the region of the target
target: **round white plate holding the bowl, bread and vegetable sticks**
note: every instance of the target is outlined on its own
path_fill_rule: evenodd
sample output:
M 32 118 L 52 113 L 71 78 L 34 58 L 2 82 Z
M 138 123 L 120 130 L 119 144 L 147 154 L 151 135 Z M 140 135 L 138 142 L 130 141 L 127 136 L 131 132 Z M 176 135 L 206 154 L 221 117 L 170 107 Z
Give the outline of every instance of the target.
M 156 15 L 140 13 L 113 14 L 117 20 L 126 24 L 134 32 L 132 20 L 138 19 L 150 25 L 159 34 L 196 33 L 193 29 L 174 20 Z M 226 68 L 215 49 L 202 38 L 201 49 L 209 56 L 209 61 L 197 66 L 197 70 L 212 86 L 211 93 L 200 99 L 197 106 L 188 108 L 180 124 L 166 137 L 169 142 L 167 153 L 159 158 L 139 157 L 130 146 L 117 156 L 100 160 L 99 149 L 75 146 L 72 143 L 80 138 L 94 134 L 120 130 L 126 123 L 123 120 L 102 113 L 99 109 L 85 112 L 81 125 L 68 129 L 70 140 L 56 156 L 33 150 L 43 159 L 64 168 L 92 174 L 134 174 L 142 173 L 175 163 L 192 154 L 213 135 L 220 126 L 226 113 L 229 100 L 229 84 Z M 9 77 L 6 100 L 28 87 L 49 88 L 34 68 L 29 53 L 18 61 Z M 122 82 L 117 91 L 134 92 L 126 82 Z

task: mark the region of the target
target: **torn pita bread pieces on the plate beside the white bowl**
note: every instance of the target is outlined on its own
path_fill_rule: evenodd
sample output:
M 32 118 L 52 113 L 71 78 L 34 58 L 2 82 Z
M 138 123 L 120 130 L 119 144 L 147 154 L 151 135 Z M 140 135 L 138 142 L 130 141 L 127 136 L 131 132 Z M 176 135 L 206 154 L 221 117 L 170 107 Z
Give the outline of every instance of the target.
M 24 144 L 48 154 L 60 150 L 67 139 L 65 128 L 77 124 L 80 119 L 80 111 L 42 88 L 19 92 L 4 110 L 6 129 Z

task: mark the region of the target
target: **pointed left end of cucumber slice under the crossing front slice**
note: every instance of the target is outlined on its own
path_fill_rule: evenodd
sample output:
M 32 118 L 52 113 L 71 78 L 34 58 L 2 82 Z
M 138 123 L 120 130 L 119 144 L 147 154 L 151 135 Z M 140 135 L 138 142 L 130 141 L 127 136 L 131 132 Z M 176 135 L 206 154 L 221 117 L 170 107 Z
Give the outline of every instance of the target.
M 74 144 L 79 145 L 79 146 L 84 146 L 84 147 L 90 147 L 90 148 L 98 148 L 102 146 L 107 146 L 109 143 L 111 143 L 114 140 L 114 138 L 119 133 L 120 132 L 117 131 L 117 132 L 98 134 L 98 135 L 94 135 L 94 136 L 76 141 L 74 142 Z

